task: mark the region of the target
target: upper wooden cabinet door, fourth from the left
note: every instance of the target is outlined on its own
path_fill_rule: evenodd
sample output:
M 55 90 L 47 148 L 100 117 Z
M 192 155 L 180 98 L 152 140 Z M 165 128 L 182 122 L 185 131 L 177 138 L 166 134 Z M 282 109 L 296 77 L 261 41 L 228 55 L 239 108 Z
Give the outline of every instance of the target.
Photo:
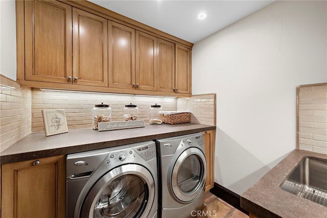
M 136 89 L 157 90 L 157 38 L 136 31 Z

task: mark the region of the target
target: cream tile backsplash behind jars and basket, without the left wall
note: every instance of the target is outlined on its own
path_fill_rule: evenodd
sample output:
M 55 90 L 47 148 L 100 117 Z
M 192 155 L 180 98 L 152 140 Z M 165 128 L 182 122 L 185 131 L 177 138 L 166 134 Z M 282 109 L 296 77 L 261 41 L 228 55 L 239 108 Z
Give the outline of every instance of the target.
M 32 132 L 44 131 L 42 109 L 64 109 L 68 129 L 92 126 L 91 110 L 95 104 L 109 104 L 112 121 L 123 120 L 123 108 L 133 103 L 138 107 L 138 120 L 149 123 L 149 107 L 161 105 L 164 111 L 189 111 L 191 122 L 215 125 L 216 95 L 196 95 L 191 98 L 117 95 L 32 90 Z

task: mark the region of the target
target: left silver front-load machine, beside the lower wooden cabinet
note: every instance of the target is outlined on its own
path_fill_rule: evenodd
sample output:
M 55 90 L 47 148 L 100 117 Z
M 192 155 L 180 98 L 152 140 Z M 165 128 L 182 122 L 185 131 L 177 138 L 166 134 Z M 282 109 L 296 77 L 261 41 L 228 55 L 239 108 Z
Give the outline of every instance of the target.
M 67 155 L 67 218 L 157 217 L 155 142 Z

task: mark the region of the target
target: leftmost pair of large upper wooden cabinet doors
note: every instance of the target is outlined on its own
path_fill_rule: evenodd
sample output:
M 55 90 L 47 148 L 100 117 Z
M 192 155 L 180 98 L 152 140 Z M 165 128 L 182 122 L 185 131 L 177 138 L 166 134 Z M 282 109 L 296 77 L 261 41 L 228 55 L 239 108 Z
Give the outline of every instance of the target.
M 25 1 L 25 79 L 108 86 L 107 28 L 60 2 Z

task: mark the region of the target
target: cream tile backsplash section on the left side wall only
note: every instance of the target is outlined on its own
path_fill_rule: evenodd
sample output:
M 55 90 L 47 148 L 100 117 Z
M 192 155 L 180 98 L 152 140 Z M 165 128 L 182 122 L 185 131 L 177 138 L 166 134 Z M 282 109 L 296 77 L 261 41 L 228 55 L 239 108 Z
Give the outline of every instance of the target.
M 32 91 L 0 76 L 0 151 L 31 133 Z

